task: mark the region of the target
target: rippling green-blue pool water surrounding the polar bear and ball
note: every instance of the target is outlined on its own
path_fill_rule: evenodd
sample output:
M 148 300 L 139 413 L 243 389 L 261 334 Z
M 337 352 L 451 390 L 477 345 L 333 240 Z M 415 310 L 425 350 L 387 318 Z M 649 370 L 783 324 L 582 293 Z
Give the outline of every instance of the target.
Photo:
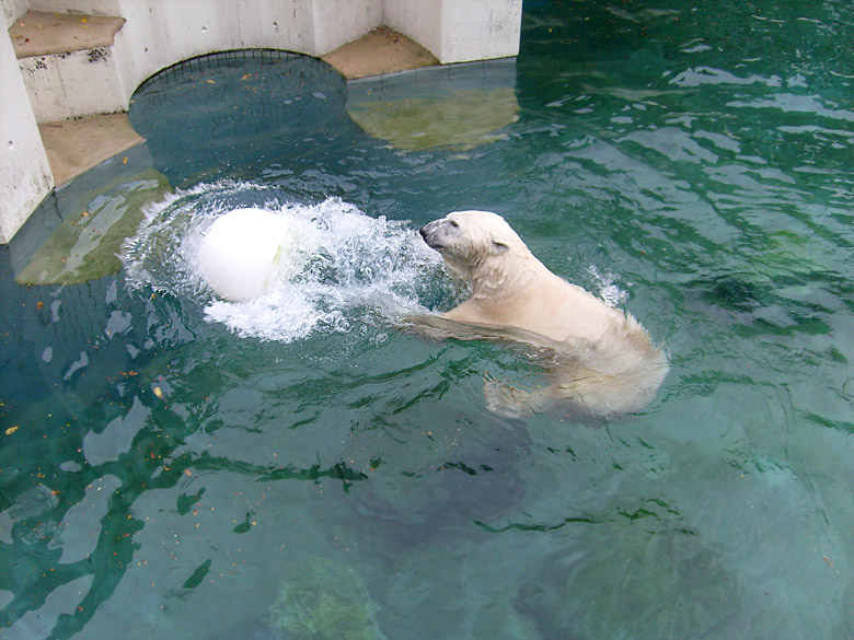
M 852 24 L 530 3 L 518 118 L 476 144 L 372 138 L 311 60 L 143 88 L 176 191 L 124 269 L 22 287 L 0 252 L 0 635 L 846 637 Z M 186 256 L 231 206 L 303 223 L 328 269 L 218 303 Z M 470 208 L 665 345 L 653 405 L 505 419 L 483 376 L 533 363 L 400 326 L 464 295 L 414 232 Z

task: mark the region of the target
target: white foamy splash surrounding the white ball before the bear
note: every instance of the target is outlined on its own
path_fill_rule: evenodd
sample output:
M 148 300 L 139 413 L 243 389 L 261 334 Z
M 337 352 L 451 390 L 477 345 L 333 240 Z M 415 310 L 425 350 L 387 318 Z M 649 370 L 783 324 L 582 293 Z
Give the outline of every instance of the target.
M 214 220 L 247 200 L 281 216 L 293 241 L 277 256 L 264 295 L 226 302 L 201 277 L 198 251 Z M 200 185 L 155 205 L 123 260 L 131 288 L 189 299 L 204 305 L 207 321 L 241 337 L 284 342 L 357 323 L 394 323 L 427 312 L 423 301 L 455 295 L 438 254 L 405 223 L 371 218 L 337 198 L 289 202 L 246 183 Z

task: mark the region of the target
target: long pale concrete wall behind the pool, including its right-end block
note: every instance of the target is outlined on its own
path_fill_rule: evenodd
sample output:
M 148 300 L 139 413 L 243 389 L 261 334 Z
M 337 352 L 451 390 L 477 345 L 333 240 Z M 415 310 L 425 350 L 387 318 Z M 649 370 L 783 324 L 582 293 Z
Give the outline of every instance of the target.
M 4 10 L 20 11 L 25 0 L 0 0 Z M 10 9 L 7 9 L 10 8 Z M 419 43 L 440 62 L 468 62 L 516 56 L 519 51 L 521 0 L 30 0 L 38 11 L 117 15 L 125 26 L 116 36 L 109 69 L 86 69 L 73 60 L 62 71 L 62 83 L 50 82 L 57 96 L 38 101 L 68 105 L 37 117 L 59 119 L 127 108 L 136 88 L 158 71 L 218 50 L 286 49 L 323 56 L 358 39 L 382 24 Z M 115 78 L 113 88 L 100 74 Z M 76 107 L 81 98 L 80 77 L 89 78 L 104 108 Z M 100 86 L 99 86 L 100 85 Z M 124 105 L 117 105 L 124 96 Z M 34 101 L 36 102 L 36 101 Z

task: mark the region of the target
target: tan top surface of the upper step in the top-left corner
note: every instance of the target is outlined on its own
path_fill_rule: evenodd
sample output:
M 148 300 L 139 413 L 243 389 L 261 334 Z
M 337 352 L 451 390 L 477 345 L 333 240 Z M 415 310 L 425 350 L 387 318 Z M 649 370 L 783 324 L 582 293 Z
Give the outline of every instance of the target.
M 33 58 L 113 45 L 123 18 L 27 11 L 9 27 L 15 56 Z

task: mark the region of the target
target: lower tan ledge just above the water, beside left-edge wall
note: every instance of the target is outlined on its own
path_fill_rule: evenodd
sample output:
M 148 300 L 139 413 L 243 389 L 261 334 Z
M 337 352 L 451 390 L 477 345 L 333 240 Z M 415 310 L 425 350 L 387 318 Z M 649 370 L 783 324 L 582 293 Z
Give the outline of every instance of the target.
M 127 114 L 43 123 L 38 132 L 57 187 L 145 141 L 128 123 Z

